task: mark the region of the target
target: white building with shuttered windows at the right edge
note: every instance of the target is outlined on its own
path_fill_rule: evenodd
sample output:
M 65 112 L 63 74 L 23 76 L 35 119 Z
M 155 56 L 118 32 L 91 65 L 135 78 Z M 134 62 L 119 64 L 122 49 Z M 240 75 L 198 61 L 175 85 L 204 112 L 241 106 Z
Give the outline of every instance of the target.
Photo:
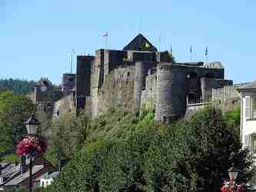
M 238 88 L 241 97 L 241 140 L 256 157 L 256 81 Z

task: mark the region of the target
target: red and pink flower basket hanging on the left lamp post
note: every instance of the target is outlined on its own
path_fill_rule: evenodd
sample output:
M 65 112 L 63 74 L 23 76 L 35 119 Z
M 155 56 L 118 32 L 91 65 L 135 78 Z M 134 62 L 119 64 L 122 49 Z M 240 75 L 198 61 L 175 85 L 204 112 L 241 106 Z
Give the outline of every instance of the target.
M 18 156 L 40 156 L 45 153 L 47 147 L 48 144 L 43 138 L 39 138 L 34 135 L 27 135 L 22 139 L 22 141 L 19 141 L 16 147 L 16 154 Z

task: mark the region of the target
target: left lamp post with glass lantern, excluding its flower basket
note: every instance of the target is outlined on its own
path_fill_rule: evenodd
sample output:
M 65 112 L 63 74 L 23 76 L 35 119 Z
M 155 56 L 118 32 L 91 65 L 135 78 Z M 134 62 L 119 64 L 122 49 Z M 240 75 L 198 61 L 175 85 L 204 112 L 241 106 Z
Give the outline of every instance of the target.
M 36 135 L 38 131 L 39 121 L 32 114 L 30 118 L 25 122 L 28 135 Z M 29 191 L 32 192 L 32 153 L 29 160 Z

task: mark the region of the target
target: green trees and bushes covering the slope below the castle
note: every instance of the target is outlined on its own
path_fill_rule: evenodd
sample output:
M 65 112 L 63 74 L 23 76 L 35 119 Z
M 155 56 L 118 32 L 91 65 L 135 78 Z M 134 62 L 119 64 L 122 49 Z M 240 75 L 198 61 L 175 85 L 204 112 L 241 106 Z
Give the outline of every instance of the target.
M 254 170 L 241 151 L 237 114 L 207 108 L 171 125 L 155 123 L 152 111 L 138 118 L 113 108 L 93 121 L 65 114 L 50 128 L 47 157 L 71 161 L 54 184 L 36 191 L 214 192 L 232 164 L 244 170 L 238 183 L 248 182 Z

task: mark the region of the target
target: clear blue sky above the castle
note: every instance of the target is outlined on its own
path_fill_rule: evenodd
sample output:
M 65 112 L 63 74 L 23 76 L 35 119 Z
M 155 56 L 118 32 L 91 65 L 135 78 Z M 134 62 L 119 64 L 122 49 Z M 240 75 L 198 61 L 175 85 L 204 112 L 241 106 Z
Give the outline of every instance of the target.
M 222 61 L 226 78 L 256 79 L 255 0 L 0 0 L 0 78 L 61 82 L 71 50 L 123 48 L 138 31 L 176 61 Z M 141 27 L 140 27 L 141 20 Z

